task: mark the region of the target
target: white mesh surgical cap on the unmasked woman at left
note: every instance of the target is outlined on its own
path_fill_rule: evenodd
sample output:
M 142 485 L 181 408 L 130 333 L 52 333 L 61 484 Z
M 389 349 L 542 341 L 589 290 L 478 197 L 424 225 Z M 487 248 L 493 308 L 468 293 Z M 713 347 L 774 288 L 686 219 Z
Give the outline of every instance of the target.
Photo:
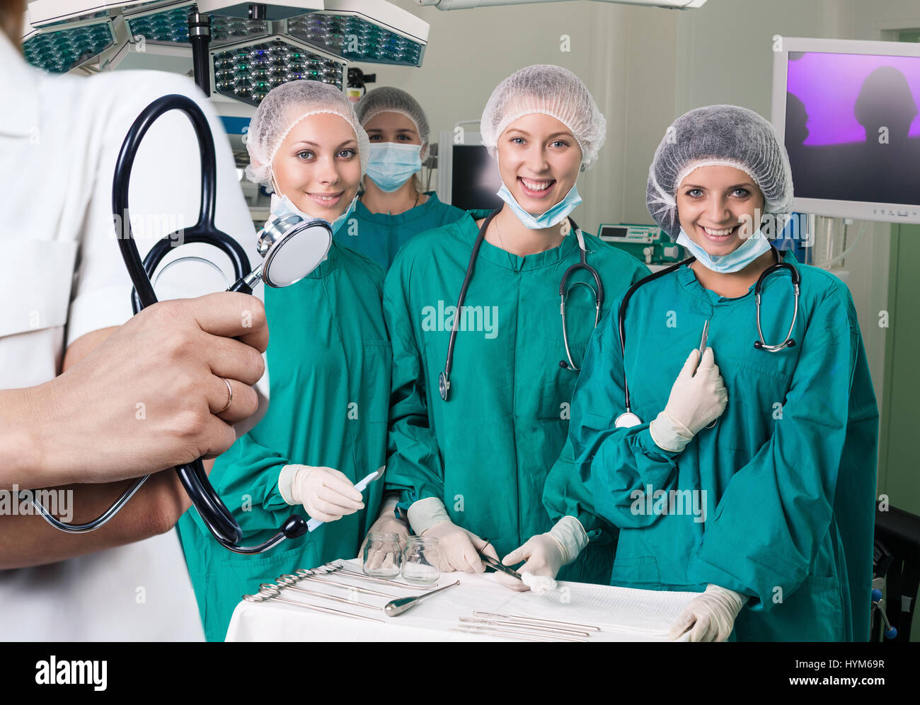
M 351 101 L 334 85 L 318 81 L 290 81 L 272 88 L 249 120 L 246 177 L 257 184 L 271 184 L 271 162 L 294 125 L 311 115 L 329 113 L 345 119 L 358 139 L 361 174 L 367 171 L 370 142 L 354 114 Z

